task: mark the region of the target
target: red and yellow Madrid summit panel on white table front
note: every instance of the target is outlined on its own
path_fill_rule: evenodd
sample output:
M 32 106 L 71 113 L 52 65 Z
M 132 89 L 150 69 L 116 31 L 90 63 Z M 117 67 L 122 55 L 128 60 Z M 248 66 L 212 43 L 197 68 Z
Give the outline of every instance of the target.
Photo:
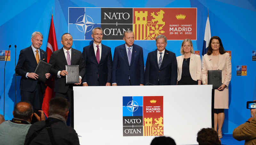
M 163 136 L 163 96 L 143 96 L 143 135 Z

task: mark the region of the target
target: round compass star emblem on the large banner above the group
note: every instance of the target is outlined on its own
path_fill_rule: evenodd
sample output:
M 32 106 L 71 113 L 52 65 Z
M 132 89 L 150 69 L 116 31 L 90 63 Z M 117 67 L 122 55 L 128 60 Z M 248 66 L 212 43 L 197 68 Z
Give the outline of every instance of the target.
M 86 15 L 84 12 L 84 15 L 77 18 L 75 25 L 80 32 L 85 34 L 86 32 L 92 30 L 93 25 L 95 25 L 95 23 L 93 23 L 93 19 L 90 16 Z

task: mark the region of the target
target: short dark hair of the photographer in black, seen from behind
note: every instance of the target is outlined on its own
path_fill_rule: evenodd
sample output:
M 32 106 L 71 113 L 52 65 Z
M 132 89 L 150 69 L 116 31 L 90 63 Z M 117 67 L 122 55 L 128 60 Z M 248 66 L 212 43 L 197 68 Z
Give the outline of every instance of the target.
M 54 97 L 49 102 L 49 115 L 59 114 L 65 117 L 66 112 L 69 110 L 69 102 L 63 97 Z

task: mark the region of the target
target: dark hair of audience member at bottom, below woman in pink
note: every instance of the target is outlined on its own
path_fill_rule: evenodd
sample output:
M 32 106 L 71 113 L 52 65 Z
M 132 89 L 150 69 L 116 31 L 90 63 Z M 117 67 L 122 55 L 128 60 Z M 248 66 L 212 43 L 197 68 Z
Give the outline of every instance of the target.
M 218 133 L 213 128 L 202 128 L 197 133 L 196 141 L 199 145 L 220 144 Z

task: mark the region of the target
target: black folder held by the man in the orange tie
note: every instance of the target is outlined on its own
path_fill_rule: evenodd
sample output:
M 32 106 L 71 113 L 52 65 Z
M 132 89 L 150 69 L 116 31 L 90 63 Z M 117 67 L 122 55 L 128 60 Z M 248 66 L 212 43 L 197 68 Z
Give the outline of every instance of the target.
M 42 60 L 39 60 L 35 70 L 35 73 L 38 75 L 37 80 L 45 83 L 46 81 L 45 74 L 50 72 L 51 67 L 52 67 L 51 64 L 44 62 Z

